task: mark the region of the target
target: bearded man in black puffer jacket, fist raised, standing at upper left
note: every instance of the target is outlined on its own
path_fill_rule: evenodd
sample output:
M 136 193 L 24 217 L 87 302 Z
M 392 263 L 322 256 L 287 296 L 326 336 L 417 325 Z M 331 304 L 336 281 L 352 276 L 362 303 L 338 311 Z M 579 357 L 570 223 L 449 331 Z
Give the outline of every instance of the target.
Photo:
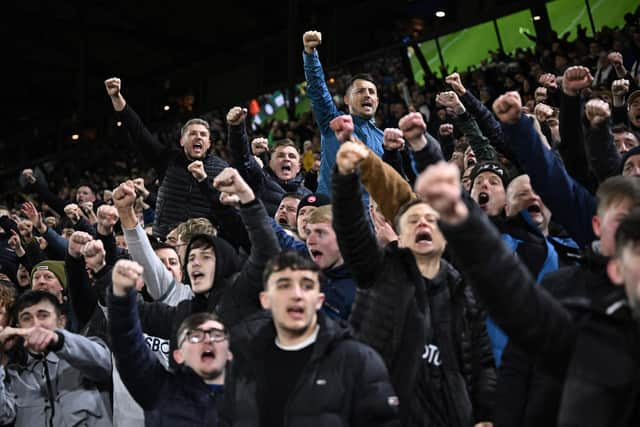
M 164 238 L 172 225 L 189 218 L 212 218 L 212 204 L 217 203 L 219 193 L 211 182 L 227 163 L 210 150 L 209 123 L 197 118 L 187 121 L 180 130 L 180 149 L 166 146 L 147 130 L 125 101 L 121 80 L 114 77 L 105 80 L 104 84 L 124 128 L 163 176 L 158 189 L 153 235 Z M 216 216 L 222 214 L 215 213 Z

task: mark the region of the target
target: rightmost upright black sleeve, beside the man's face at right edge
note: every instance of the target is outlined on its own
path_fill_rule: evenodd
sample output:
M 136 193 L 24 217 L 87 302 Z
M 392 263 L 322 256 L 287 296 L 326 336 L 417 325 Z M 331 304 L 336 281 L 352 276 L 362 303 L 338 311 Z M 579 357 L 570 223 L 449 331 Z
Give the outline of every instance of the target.
M 608 121 L 586 128 L 586 149 L 591 169 L 598 178 L 598 182 L 619 175 L 622 158 L 611 133 Z

